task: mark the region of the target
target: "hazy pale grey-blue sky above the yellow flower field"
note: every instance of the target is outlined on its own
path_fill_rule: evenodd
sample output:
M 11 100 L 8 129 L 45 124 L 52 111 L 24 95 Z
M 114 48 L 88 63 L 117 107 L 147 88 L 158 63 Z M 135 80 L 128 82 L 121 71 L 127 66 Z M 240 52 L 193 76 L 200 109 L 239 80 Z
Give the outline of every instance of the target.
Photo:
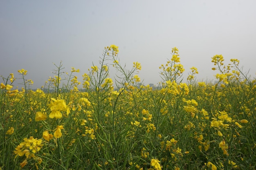
M 23 68 L 40 88 L 61 62 L 69 73 L 80 69 L 74 75 L 82 82 L 104 47 L 115 44 L 121 65 L 141 63 L 144 84 L 161 80 L 159 66 L 173 47 L 185 78 L 194 66 L 197 80 L 214 79 L 217 54 L 225 64 L 240 60 L 255 77 L 255 7 L 255 0 L 1 0 L 0 75 L 20 77 Z

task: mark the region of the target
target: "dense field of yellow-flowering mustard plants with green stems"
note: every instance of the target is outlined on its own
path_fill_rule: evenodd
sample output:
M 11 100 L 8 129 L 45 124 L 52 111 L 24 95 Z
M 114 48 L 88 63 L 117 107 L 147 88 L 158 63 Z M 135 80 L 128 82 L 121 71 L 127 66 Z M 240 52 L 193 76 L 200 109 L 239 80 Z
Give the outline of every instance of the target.
M 173 48 L 151 87 L 140 63 L 128 69 L 118 52 L 105 47 L 83 82 L 62 64 L 36 91 L 25 69 L 2 77 L 0 170 L 256 169 L 256 79 L 239 60 L 213 56 L 214 83 L 197 82 L 195 67 L 182 79 Z

